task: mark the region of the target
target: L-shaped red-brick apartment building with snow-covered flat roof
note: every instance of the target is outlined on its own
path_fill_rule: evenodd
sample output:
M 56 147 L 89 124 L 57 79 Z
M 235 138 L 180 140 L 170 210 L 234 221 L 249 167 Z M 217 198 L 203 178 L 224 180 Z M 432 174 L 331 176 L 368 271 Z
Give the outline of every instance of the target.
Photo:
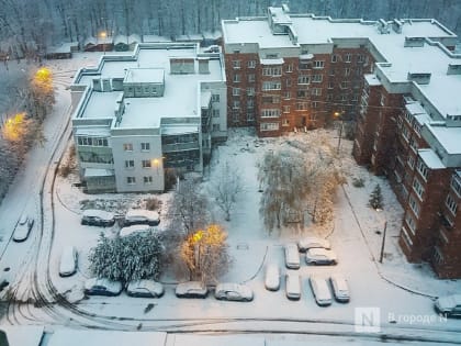
M 461 278 L 461 56 L 436 20 L 291 14 L 223 21 L 227 123 L 259 136 L 357 121 L 353 156 L 389 177 L 409 261 Z

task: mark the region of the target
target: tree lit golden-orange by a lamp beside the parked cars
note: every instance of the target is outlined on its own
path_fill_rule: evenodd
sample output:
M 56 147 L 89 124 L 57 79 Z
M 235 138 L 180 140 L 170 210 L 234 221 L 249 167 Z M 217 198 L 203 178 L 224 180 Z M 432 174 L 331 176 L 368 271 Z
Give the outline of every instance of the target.
M 216 283 L 232 263 L 227 233 L 220 225 L 209 225 L 190 234 L 181 245 L 181 258 L 190 270 L 191 279 Z

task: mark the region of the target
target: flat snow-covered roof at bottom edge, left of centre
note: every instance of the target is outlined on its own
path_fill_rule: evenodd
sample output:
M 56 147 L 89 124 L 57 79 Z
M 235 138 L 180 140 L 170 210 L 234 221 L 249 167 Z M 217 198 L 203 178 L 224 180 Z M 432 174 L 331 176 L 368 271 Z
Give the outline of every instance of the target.
M 117 345 L 117 346 L 153 346 L 165 345 L 167 333 L 164 332 L 119 332 L 119 331 L 77 331 L 56 330 L 48 346 L 86 346 Z M 12 344 L 14 345 L 14 344 Z M 22 345 L 22 344 L 18 344 Z

